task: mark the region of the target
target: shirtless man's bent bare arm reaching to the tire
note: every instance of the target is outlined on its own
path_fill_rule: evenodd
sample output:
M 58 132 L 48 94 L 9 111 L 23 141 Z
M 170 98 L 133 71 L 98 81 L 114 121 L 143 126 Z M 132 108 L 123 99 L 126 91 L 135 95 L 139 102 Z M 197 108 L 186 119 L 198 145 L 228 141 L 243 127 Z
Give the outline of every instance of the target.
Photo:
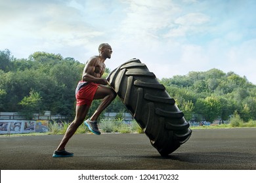
M 108 81 L 101 78 L 102 73 L 95 73 L 96 61 L 96 57 L 90 58 L 89 61 L 87 61 L 85 69 L 83 69 L 83 81 L 106 85 Z

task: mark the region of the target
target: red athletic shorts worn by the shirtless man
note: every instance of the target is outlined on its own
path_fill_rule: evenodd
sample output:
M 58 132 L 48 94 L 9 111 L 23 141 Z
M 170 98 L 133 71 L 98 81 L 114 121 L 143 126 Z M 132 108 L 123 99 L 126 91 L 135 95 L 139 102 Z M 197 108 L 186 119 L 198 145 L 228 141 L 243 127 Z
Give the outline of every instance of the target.
M 91 105 L 98 85 L 99 84 L 95 84 L 94 82 L 89 82 L 86 86 L 83 86 L 75 95 L 76 105 Z

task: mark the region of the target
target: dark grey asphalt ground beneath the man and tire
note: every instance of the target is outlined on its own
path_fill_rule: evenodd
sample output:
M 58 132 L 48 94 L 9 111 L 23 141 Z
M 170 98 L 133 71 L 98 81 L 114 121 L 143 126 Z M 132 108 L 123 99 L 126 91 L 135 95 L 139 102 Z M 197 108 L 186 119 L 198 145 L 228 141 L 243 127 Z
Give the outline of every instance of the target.
M 75 134 L 71 158 L 52 158 L 63 135 L 0 136 L 1 170 L 256 170 L 256 128 L 198 129 L 162 158 L 145 134 Z

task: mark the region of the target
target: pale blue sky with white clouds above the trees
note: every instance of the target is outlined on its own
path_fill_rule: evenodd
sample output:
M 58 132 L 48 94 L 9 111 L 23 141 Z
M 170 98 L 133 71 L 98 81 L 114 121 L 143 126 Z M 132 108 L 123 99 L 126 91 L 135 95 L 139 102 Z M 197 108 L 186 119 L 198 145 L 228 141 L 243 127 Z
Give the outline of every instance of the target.
M 0 50 L 85 63 L 108 42 L 111 71 L 140 59 L 157 78 L 230 71 L 256 84 L 255 0 L 0 0 Z

